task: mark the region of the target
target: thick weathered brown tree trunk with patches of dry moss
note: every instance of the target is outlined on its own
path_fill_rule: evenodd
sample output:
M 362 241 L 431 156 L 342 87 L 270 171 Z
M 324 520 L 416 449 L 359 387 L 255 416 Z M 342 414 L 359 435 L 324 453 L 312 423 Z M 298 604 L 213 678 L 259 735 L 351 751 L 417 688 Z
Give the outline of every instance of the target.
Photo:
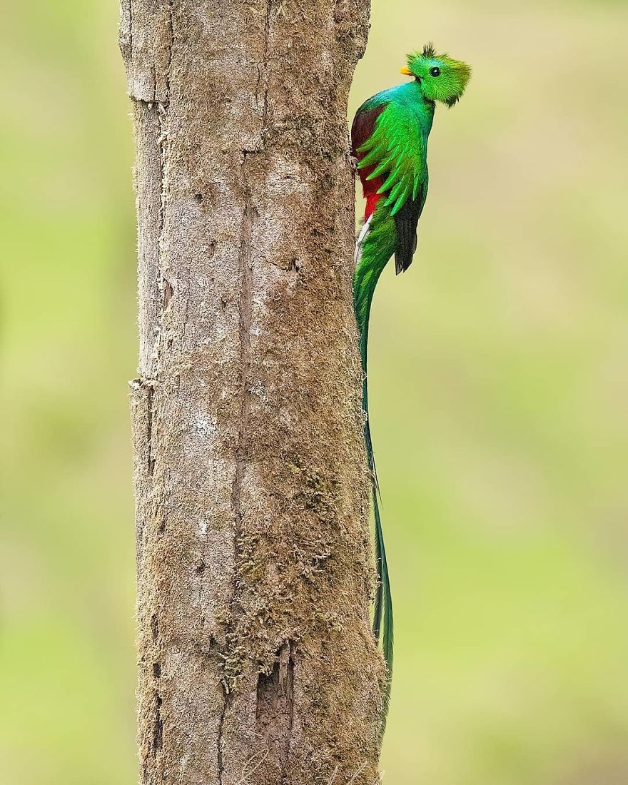
M 352 315 L 368 0 L 122 0 L 141 783 L 373 785 Z

